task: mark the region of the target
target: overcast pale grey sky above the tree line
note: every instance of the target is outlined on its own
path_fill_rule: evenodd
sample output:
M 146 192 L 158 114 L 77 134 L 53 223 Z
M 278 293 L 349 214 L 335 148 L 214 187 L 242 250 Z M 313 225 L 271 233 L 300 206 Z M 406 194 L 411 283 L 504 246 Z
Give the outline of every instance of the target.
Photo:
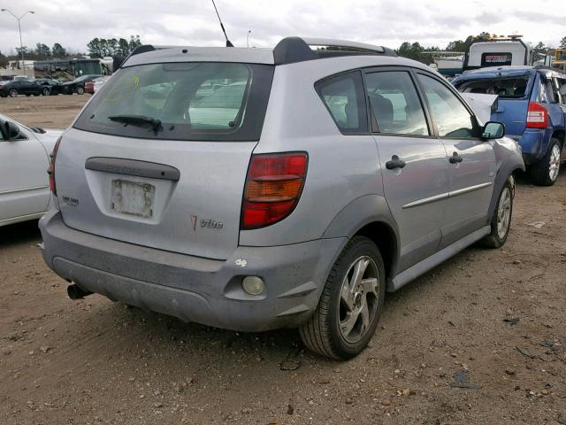
M 520 34 L 556 47 L 566 36 L 566 0 L 218 0 L 236 46 L 267 47 L 287 35 L 332 37 L 397 48 L 401 42 L 439 45 L 478 35 Z M 24 45 L 37 42 L 86 51 L 95 37 L 140 35 L 155 44 L 221 45 L 210 0 L 0 0 L 21 20 Z M 562 12 L 559 12 L 562 11 Z M 18 22 L 0 13 L 0 50 L 19 46 Z

